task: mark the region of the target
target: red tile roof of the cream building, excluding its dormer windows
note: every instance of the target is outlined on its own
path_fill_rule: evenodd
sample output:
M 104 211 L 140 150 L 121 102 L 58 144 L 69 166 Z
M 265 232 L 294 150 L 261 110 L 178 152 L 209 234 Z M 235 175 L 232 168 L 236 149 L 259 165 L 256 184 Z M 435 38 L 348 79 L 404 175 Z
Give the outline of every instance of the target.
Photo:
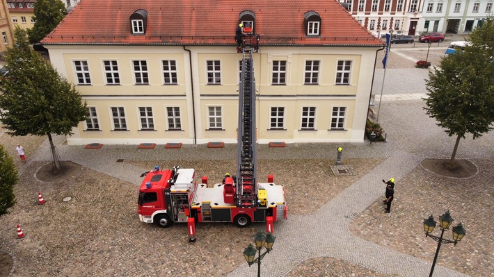
M 130 16 L 148 12 L 145 35 L 133 35 Z M 336 0 L 83 0 L 43 44 L 232 45 L 239 13 L 255 12 L 260 45 L 383 45 Z M 321 17 L 320 37 L 306 37 L 305 12 Z

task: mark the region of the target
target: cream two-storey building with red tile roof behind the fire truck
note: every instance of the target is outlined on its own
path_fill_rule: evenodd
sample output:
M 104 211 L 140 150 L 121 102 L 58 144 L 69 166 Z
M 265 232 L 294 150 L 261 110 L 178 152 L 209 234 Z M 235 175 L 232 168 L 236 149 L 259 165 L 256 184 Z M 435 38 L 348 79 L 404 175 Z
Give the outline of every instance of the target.
M 288 2 L 81 1 L 42 40 L 88 103 L 67 142 L 237 142 L 240 22 L 261 37 L 257 142 L 363 142 L 383 43 L 337 1 Z

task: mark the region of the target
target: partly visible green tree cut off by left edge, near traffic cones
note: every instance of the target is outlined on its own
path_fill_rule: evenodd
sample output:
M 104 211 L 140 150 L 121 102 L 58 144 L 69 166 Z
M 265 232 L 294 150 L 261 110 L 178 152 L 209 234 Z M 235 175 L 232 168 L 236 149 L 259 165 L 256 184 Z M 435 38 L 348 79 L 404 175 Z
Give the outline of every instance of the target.
M 0 217 L 15 205 L 14 185 L 19 181 L 12 157 L 0 145 Z

